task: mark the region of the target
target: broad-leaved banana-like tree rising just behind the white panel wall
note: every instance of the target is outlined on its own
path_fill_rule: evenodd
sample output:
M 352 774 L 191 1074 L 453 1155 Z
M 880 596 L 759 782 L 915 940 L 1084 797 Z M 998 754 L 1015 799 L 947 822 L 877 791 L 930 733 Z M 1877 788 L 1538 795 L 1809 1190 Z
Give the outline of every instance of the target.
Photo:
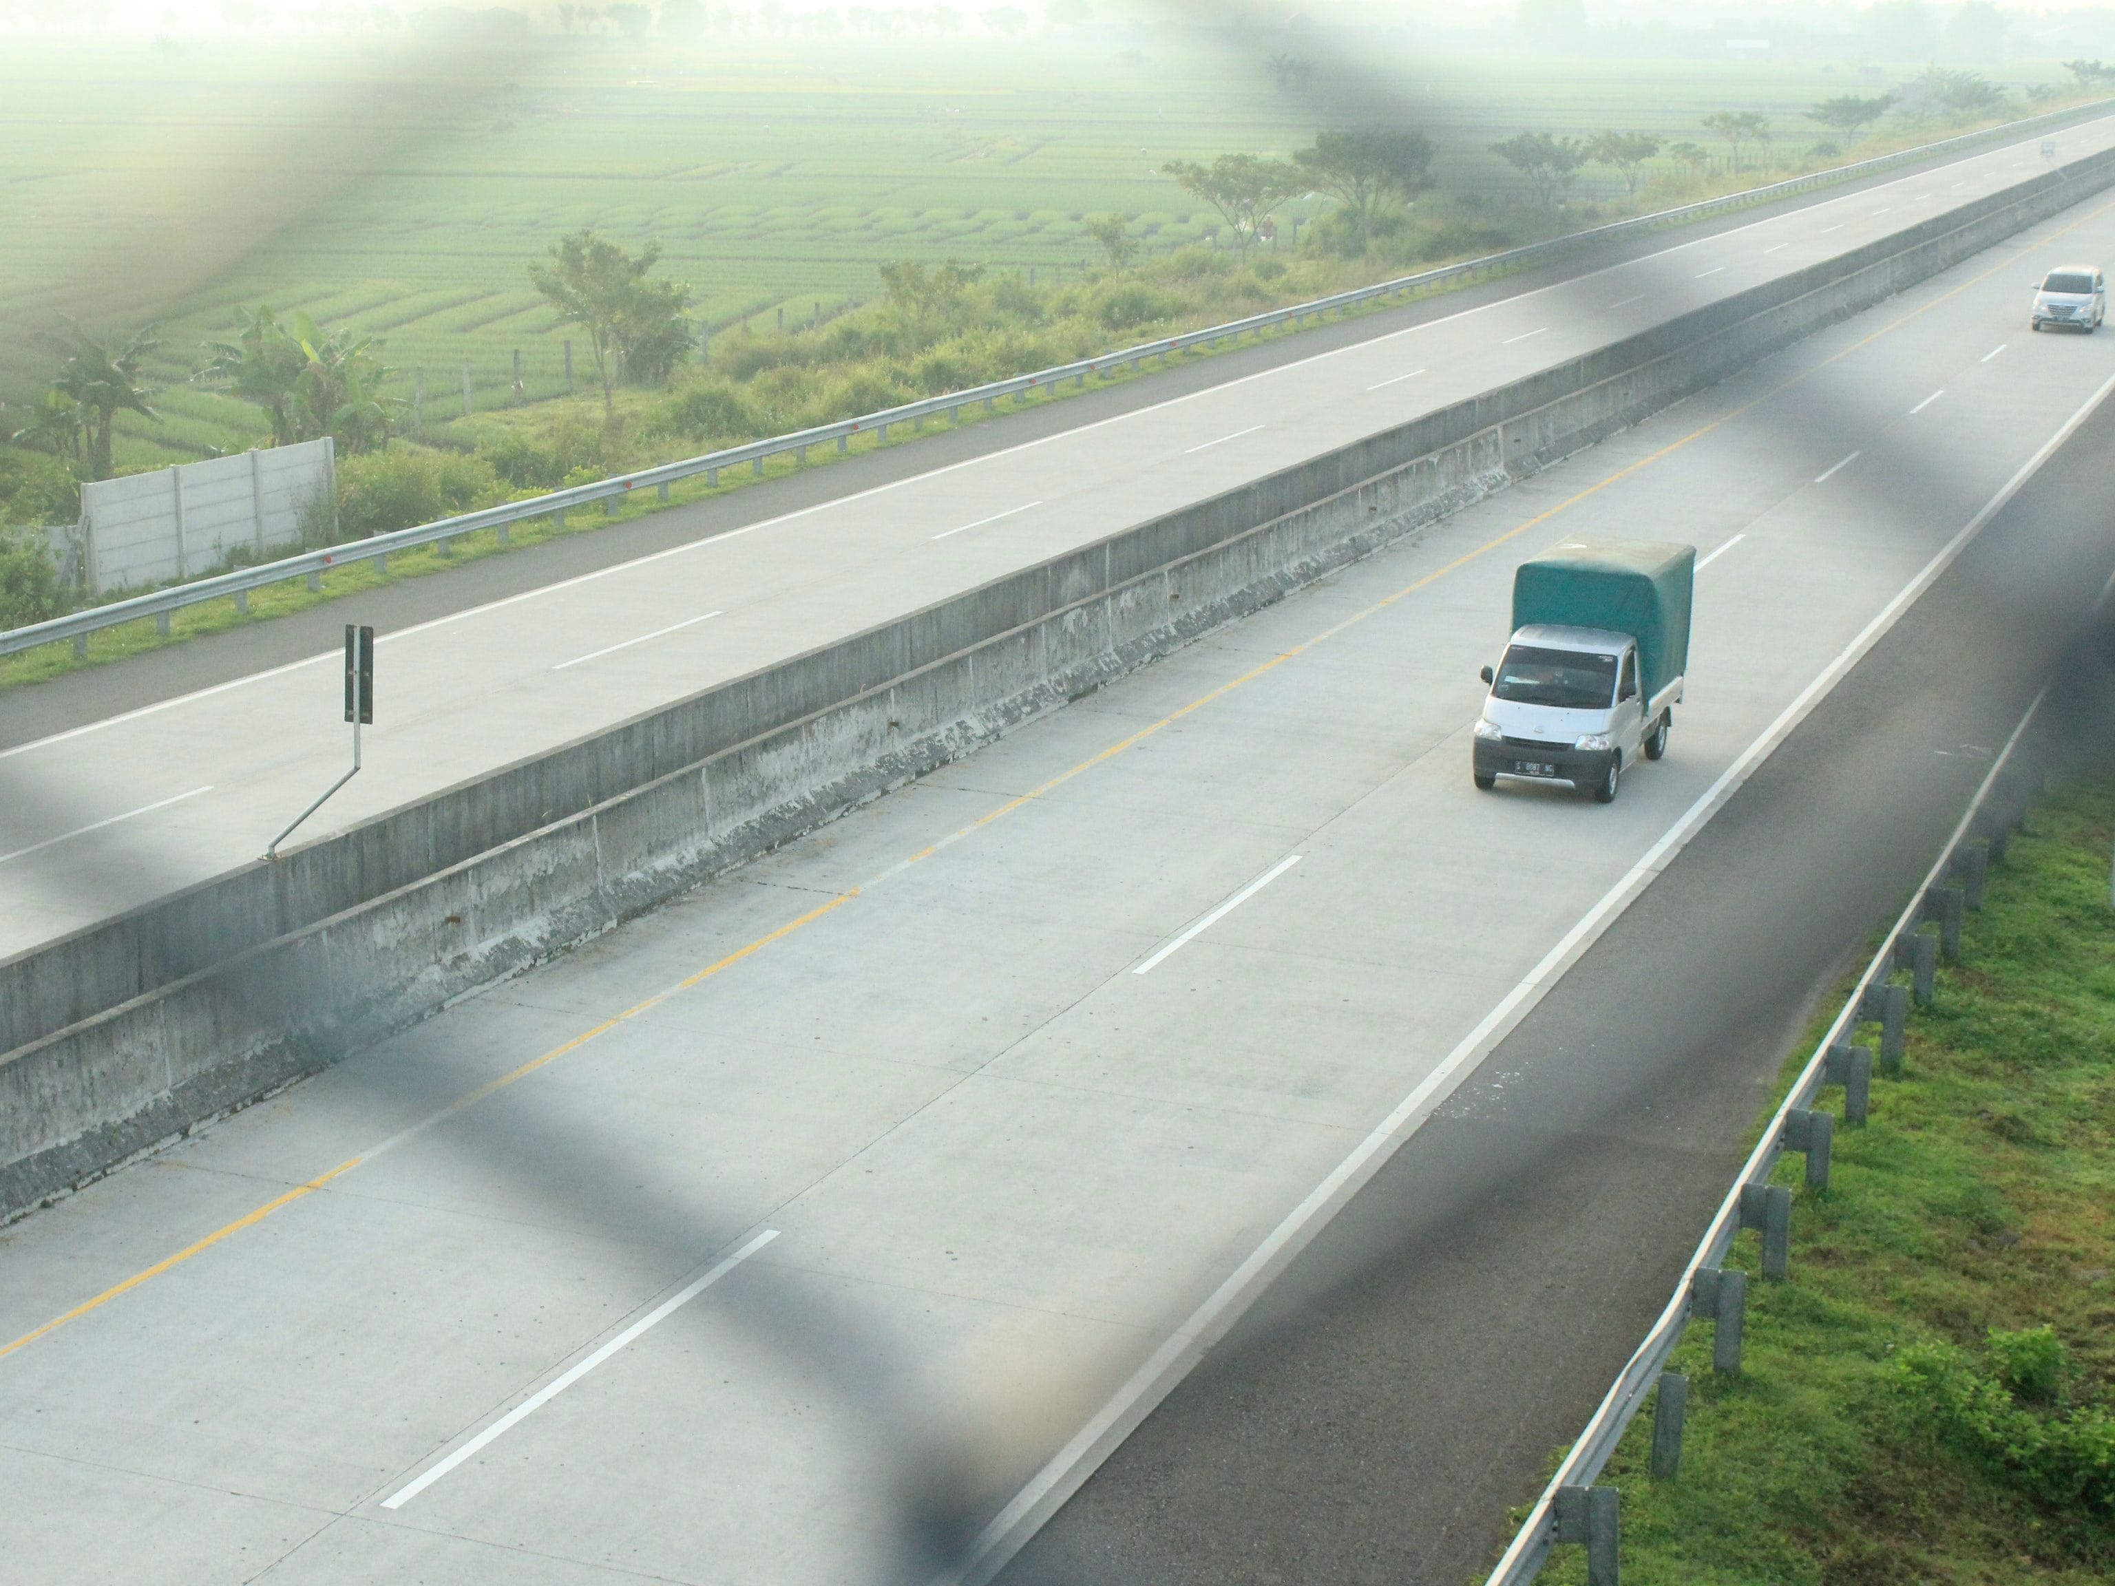
M 351 330 L 324 332 L 296 313 L 281 324 L 269 307 L 235 311 L 235 340 L 205 343 L 195 379 L 264 408 L 275 446 L 334 438 L 347 453 L 376 450 L 396 429 L 400 398 L 381 395 L 389 370 L 381 343 Z

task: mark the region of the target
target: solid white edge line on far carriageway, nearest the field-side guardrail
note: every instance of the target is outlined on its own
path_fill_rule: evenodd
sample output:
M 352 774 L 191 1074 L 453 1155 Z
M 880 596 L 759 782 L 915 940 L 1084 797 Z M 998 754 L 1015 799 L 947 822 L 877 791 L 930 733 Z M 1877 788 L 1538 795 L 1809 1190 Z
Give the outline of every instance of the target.
M 2079 127 L 2075 131 L 2085 129 L 2085 127 L 2096 127 L 2102 121 L 2115 121 L 2115 116 L 2100 116 L 2100 121 L 2079 123 Z M 1997 159 L 1997 156 L 2003 156 L 2007 152 L 2011 152 L 2009 146 L 2007 148 L 1984 150 L 1982 154 L 1969 154 L 1969 156 L 1965 156 L 1961 161 L 1948 161 L 1948 165 L 1952 169 L 1958 169 L 1961 165 L 1967 165 L 1967 163 L 1973 163 L 1973 161 L 1982 161 L 1982 159 Z M 1895 180 L 1897 182 L 1908 182 L 1910 178 L 1895 178 Z M 1497 298 L 1493 302 L 1478 302 L 1472 309 L 1459 309 L 1455 313 L 1440 315 L 1438 319 L 1423 319 L 1423 321 L 1419 321 L 1415 326 L 1404 326 L 1402 330 L 1392 330 L 1385 336 L 1371 336 L 1366 340 L 1356 340 L 1356 343 L 1349 343 L 1345 347 L 1330 347 L 1326 351 L 1311 353 L 1311 355 L 1294 359 L 1290 364 L 1275 364 L 1273 368 L 1256 370 L 1254 374 L 1242 374 L 1239 379 L 1222 381 L 1218 385 L 1208 385 L 1208 387 L 1203 387 L 1199 391 L 1184 391 L 1182 395 L 1167 398 L 1165 402 L 1153 402 L 1153 404 L 1146 404 L 1144 408 L 1134 408 L 1129 412 L 1115 412 L 1108 419 L 1096 419 L 1093 423 L 1077 425 L 1074 429 L 1060 429 L 1053 436 L 1038 436 L 1036 440 L 1024 440 L 1024 442 L 1019 442 L 1015 446 L 1003 446 L 1003 448 L 992 450 L 992 453 L 979 453 L 977 457 L 964 457 L 960 463 L 943 463 L 941 467 L 931 467 L 924 474 L 907 474 L 901 480 L 884 480 L 882 484 L 873 484 L 873 486 L 869 486 L 865 491 L 854 491 L 852 495 L 838 495 L 838 497 L 831 497 L 829 501 L 816 501 L 814 505 L 808 505 L 808 508 L 795 508 L 793 512 L 783 512 L 776 518 L 761 518 L 757 522 L 747 522 L 747 524 L 738 524 L 734 529 L 725 529 L 725 531 L 721 531 L 717 535 L 704 535 L 700 539 L 687 539 L 681 546 L 668 546 L 666 550 L 656 550 L 656 552 L 649 552 L 645 556 L 635 556 L 628 563 L 611 563 L 609 567 L 596 567 L 590 573 L 580 573 L 575 577 L 560 579 L 556 584 L 539 584 L 533 590 L 522 590 L 520 594 L 508 594 L 508 596 L 501 596 L 499 601 L 486 601 L 484 605 L 474 605 L 474 607 L 467 607 L 467 609 L 457 611 L 457 613 L 446 615 L 446 617 L 434 617 L 431 622 L 419 622 L 419 624 L 415 624 L 410 628 L 398 628 L 396 632 L 376 634 L 374 643 L 389 643 L 393 639 L 410 639 L 412 634 L 427 632 L 429 628 L 442 628 L 442 626 L 446 626 L 450 622 L 467 622 L 470 617 L 480 617 L 486 611 L 499 611 L 501 607 L 518 605 L 520 601 L 535 601 L 535 598 L 541 598 L 546 594 L 556 594 L 558 590 L 569 590 L 575 584 L 588 584 L 592 579 L 607 577 L 611 573 L 624 573 L 624 571 L 628 571 L 632 567 L 645 567 L 647 563 L 658 563 L 658 560 L 662 560 L 666 556 L 681 556 L 685 552 L 702 550 L 706 546 L 717 546 L 723 539 L 736 539 L 740 535 L 755 533 L 757 529 L 772 529 L 774 524 L 791 522 L 795 518 L 806 518 L 806 516 L 810 516 L 814 512 L 825 512 L 827 508 L 842 508 L 842 505 L 848 505 L 852 501 L 865 501 L 871 495 L 882 495 L 886 491 L 897 491 L 897 488 L 903 488 L 905 484 L 918 484 L 922 480 L 935 480 L 935 478 L 941 478 L 945 474 L 954 474 L 954 472 L 964 469 L 964 467 L 977 467 L 979 463 L 992 463 L 992 461 L 998 461 L 1003 457 L 1013 457 L 1015 453 L 1026 453 L 1026 450 L 1032 450 L 1036 446 L 1047 446 L 1051 442 L 1066 440 L 1070 436 L 1085 436 L 1085 434 L 1091 434 L 1096 429 L 1102 429 L 1104 425 L 1123 423 L 1127 419 L 1136 419 L 1136 417 L 1146 414 L 1146 412 L 1159 412 L 1163 408 L 1174 408 L 1174 406 L 1180 406 L 1184 402 L 1197 402 L 1197 400 L 1214 395 L 1218 391 L 1233 391 L 1237 387 L 1248 385 L 1250 381 L 1265 381 L 1265 379 L 1269 379 L 1273 374 L 1282 374 L 1282 372 L 1294 370 L 1294 368 L 1305 368 L 1309 364 L 1322 364 L 1322 362 L 1326 362 L 1330 357 L 1345 357 L 1349 353 L 1358 353 L 1358 351 L 1364 351 L 1364 349 L 1371 349 L 1371 347 L 1385 347 L 1392 340 L 1398 340 L 1402 336 L 1415 336 L 1421 330 L 1430 330 L 1432 326 L 1445 326 L 1445 324 L 1451 324 L 1455 319 L 1468 319 L 1468 317 L 1478 315 L 1478 313 L 1489 313 L 1491 309 L 1504 309 L 1504 307 L 1510 307 L 1510 305 L 1529 302 L 1529 300 L 1540 298 L 1540 296 L 1544 296 L 1548 292 L 1565 292 L 1569 288 L 1582 285 L 1584 281 L 1599 281 L 1603 275 L 1616 275 L 1618 271 L 1637 269 L 1639 264 L 1650 264 L 1650 262 L 1660 260 L 1660 258 L 1673 258 L 1675 254 L 1688 252 L 1690 247 L 1700 247 L 1703 243 L 1722 241 L 1726 237 L 1741 237 L 1741 235 L 1745 235 L 1749 230 L 1762 230 L 1764 226 L 1787 224 L 1787 222 L 1794 222 L 1794 220 L 1810 220 L 1815 216 L 1825 214 L 1827 209 L 1834 209 L 1840 203 L 1853 203 L 1855 199 L 1870 197 L 1872 192 L 1880 192 L 1887 186 L 1893 186 L 1893 184 L 1882 182 L 1880 186 L 1876 186 L 1876 188 L 1863 188 L 1861 192 L 1842 192 L 1842 195 L 1838 195 L 1834 199 L 1821 199 L 1819 203 L 1800 205 L 1798 209 L 1791 209 L 1791 211 L 1785 211 L 1785 214 L 1764 216 L 1760 220 L 1751 220 L 1745 226 L 1728 226 L 1726 230 L 1715 230 L 1709 237 L 1690 237 L 1688 241 L 1673 243 L 1671 247 L 1662 247 L 1656 254 L 1639 254 L 1637 258 L 1622 258 L 1622 260 L 1616 260 L 1614 264 L 1603 264 L 1597 271 L 1584 271 L 1582 275 L 1571 275 L 1571 277 L 1565 277 L 1563 281 L 1550 281 L 1548 285 L 1538 285 L 1531 292 L 1521 292 L 1514 298 Z M 1956 182 L 1954 186 L 1967 186 L 1967 180 L 1963 178 L 1963 182 Z M 1823 226 L 1815 235 L 1817 237 L 1827 237 L 1832 230 L 1842 230 L 1844 224 L 1846 222 L 1836 222 L 1834 226 Z M 1639 298 L 1641 296 L 1648 296 L 1648 294 L 1641 292 Z M 1622 302 L 1618 302 L 1614 307 L 1620 309 L 1620 307 L 1624 307 L 1629 302 L 1637 302 L 1637 298 L 1624 298 Z M 309 656 L 307 660 L 286 662 L 281 666 L 271 666 L 271 668 L 266 668 L 262 672 L 252 672 L 247 677 L 231 677 L 226 683 L 214 683 L 212 687 L 192 689 L 190 694 L 178 694 L 173 700 L 157 700 L 154 704 L 142 704 L 137 711 L 123 711 L 121 715 L 106 717 L 104 721 L 85 721 L 78 727 L 68 727 L 66 732 L 55 732 L 49 738 L 34 738 L 32 742 L 15 744 L 13 749 L 0 749 L 0 759 L 8 759 L 13 755 L 25 755 L 32 749 L 44 749 L 49 744 L 59 744 L 59 742 L 66 742 L 68 738 L 78 738 L 82 734 L 99 732 L 104 727 L 114 727 L 114 725 L 118 725 L 123 721 L 137 721 L 140 717 L 150 717 L 150 715 L 157 715 L 161 711 L 169 711 L 169 708 L 180 706 L 180 704 L 190 704 L 192 700 L 203 700 L 203 698 L 207 698 L 212 694 L 224 694 L 226 689 L 243 687 L 245 683 L 258 683 L 262 679 L 277 677 L 281 672 L 292 672 L 292 670 L 296 670 L 300 666 L 315 666 L 317 662 L 336 660 L 336 656 L 338 656 L 338 651 L 330 649 L 330 651 L 324 651 L 321 656 Z

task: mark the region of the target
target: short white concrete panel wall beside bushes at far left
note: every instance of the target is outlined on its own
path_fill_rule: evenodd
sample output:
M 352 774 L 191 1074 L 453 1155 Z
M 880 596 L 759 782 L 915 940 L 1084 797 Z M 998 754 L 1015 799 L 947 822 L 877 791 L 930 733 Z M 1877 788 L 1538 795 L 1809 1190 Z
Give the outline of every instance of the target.
M 328 505 L 334 482 L 330 436 L 97 480 L 80 486 L 72 550 L 95 594 L 197 577 L 235 550 L 300 543 L 302 512 Z

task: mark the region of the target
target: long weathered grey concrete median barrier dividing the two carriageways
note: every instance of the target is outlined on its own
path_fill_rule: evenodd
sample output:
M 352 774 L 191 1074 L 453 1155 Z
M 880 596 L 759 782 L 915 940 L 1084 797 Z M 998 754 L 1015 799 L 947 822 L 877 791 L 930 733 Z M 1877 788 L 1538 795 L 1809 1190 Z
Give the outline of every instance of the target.
M 0 1214 L 1417 535 L 2115 178 L 1887 243 L 0 964 Z

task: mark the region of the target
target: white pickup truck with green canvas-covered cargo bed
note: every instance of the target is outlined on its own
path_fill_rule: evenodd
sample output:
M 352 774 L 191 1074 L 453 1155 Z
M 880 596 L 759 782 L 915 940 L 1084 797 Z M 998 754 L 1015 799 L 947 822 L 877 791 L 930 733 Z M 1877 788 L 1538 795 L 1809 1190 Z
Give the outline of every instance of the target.
M 1472 772 L 1569 782 L 1614 804 L 1667 753 L 1690 664 L 1696 546 L 1567 539 L 1512 575 L 1512 639 L 1476 719 Z

